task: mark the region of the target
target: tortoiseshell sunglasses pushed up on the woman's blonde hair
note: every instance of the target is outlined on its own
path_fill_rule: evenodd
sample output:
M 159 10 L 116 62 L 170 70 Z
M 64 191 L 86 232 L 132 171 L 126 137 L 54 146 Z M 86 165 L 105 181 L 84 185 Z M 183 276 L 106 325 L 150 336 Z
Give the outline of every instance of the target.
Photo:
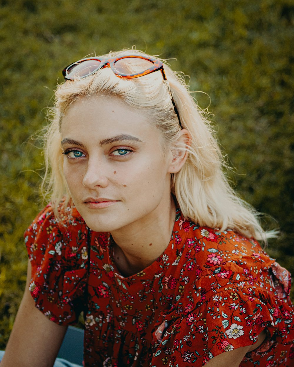
M 97 56 L 81 59 L 64 68 L 62 70 L 62 75 L 65 80 L 74 80 L 85 78 L 96 73 L 97 70 L 107 67 L 111 68 L 116 76 L 123 79 L 138 78 L 160 70 L 163 80 L 167 80 L 163 62 L 152 57 L 140 55 L 124 55 L 117 58 Z M 173 98 L 172 104 L 178 117 L 180 127 L 182 128 L 178 109 L 176 108 Z

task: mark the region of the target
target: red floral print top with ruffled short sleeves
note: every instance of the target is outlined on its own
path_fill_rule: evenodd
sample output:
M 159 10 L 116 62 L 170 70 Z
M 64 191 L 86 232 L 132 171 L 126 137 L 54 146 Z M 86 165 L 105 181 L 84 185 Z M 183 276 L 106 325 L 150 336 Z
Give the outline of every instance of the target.
M 60 325 L 84 311 L 86 367 L 203 366 L 265 328 L 240 366 L 294 366 L 290 275 L 255 240 L 177 210 L 166 250 L 129 277 L 116 268 L 109 233 L 92 232 L 76 211 L 64 227 L 47 206 L 25 242 L 36 307 Z

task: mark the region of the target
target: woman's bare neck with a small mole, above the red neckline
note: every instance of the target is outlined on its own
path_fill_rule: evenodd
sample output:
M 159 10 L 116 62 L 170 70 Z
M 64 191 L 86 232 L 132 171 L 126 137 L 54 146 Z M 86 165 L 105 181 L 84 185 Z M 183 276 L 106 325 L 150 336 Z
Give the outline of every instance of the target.
M 114 261 L 124 276 L 138 273 L 164 252 L 171 239 L 176 207 L 171 198 L 168 208 L 159 205 L 140 221 L 111 232 Z

